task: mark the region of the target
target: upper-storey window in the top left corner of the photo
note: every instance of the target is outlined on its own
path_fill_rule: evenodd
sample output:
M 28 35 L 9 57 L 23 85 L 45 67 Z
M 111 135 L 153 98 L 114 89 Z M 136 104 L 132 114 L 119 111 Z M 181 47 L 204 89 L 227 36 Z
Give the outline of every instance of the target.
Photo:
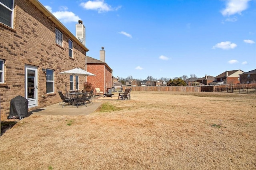
M 0 0 L 0 22 L 12 27 L 14 0 Z

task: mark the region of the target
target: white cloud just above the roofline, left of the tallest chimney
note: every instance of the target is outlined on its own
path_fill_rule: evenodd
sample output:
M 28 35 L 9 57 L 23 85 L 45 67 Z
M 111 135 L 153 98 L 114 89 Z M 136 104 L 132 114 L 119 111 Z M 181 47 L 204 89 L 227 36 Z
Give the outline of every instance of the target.
M 76 16 L 73 12 L 69 11 L 57 11 L 52 14 L 62 23 L 77 22 L 78 20 L 81 20 L 81 18 Z

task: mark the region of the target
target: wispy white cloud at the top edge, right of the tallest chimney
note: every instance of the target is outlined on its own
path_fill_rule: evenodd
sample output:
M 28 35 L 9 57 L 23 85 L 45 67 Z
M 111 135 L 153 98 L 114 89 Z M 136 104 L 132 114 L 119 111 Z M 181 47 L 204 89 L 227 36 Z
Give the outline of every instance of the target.
M 105 3 L 104 0 L 95 0 L 95 1 L 89 0 L 87 2 L 82 2 L 80 6 L 82 6 L 86 10 L 96 10 L 98 11 L 98 13 L 114 11 L 121 8 L 121 6 L 112 8 L 110 5 Z

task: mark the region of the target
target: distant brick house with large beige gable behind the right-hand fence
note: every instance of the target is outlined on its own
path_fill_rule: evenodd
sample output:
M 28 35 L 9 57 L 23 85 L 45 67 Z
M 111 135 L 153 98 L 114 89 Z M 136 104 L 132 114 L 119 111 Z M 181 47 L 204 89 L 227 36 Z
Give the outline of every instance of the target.
M 210 84 L 239 84 L 240 74 L 244 73 L 242 70 L 225 71 L 216 76 L 213 82 Z

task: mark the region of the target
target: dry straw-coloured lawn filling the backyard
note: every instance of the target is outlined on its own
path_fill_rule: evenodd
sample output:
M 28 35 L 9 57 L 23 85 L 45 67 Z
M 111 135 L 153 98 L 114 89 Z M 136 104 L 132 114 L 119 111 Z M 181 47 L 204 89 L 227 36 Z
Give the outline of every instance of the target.
M 0 169 L 256 169 L 255 94 L 132 92 L 105 101 L 86 116 L 17 120 L 0 137 Z

